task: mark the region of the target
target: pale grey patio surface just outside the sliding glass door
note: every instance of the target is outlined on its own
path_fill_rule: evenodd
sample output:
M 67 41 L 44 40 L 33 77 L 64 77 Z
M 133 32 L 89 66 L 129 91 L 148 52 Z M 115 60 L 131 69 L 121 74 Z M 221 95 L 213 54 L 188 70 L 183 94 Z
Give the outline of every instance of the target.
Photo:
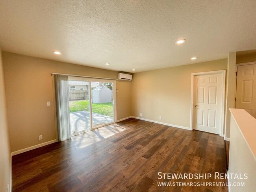
M 71 135 L 76 135 L 77 133 L 91 130 L 90 121 L 91 120 L 89 111 L 79 111 L 70 113 Z M 100 126 L 101 124 L 103 125 L 111 123 L 113 121 L 114 119 L 111 116 L 93 113 L 93 126 Z

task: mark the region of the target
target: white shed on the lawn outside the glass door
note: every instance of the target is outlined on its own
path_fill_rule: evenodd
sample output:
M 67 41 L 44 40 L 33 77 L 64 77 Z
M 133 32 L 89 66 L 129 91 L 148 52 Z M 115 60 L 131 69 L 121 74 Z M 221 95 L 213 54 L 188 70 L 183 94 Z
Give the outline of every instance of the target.
M 96 87 L 91 92 L 93 103 L 112 102 L 112 91 L 107 86 Z

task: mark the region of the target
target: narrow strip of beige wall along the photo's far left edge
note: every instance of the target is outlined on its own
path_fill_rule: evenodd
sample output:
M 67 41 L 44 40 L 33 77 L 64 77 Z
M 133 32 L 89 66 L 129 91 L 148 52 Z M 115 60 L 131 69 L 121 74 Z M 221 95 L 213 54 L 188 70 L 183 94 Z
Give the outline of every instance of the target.
M 6 96 L 4 89 L 4 74 L 2 55 L 0 50 L 0 191 L 11 188 L 11 158 L 10 158 L 9 133 L 6 116 Z

